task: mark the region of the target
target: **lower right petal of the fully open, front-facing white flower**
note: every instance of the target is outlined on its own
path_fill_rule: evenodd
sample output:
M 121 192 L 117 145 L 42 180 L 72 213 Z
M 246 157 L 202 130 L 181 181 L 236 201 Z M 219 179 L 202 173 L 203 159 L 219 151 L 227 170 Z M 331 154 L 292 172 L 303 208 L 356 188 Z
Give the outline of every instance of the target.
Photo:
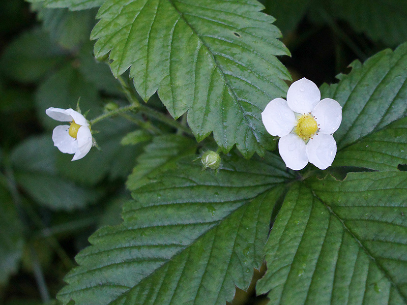
M 319 132 L 307 143 L 309 162 L 319 169 L 332 165 L 336 155 L 336 142 L 332 135 Z

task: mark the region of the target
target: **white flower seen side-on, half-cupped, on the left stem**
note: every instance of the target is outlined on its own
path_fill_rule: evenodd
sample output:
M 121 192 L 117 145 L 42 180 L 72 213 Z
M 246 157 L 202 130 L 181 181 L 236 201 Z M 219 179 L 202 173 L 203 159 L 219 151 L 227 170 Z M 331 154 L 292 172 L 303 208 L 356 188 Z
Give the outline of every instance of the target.
M 54 145 L 64 154 L 75 154 L 72 161 L 79 160 L 89 153 L 93 139 L 88 120 L 79 112 L 69 108 L 48 108 L 45 113 L 57 120 L 70 122 L 70 125 L 60 125 L 52 132 Z

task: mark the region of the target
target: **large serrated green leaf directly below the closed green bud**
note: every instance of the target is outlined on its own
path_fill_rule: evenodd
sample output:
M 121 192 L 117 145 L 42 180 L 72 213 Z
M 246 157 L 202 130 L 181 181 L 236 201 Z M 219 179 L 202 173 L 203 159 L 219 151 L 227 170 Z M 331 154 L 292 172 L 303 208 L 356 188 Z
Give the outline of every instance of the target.
M 231 156 L 217 174 L 183 159 L 133 192 L 122 225 L 91 236 L 59 299 L 224 304 L 261 265 L 279 184 L 289 178 L 272 154 L 264 162 Z

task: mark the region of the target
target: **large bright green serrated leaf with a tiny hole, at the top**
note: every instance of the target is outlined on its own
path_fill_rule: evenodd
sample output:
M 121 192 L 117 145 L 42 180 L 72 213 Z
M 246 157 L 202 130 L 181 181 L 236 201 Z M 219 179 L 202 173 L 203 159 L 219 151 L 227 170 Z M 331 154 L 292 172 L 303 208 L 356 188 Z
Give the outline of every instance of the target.
M 262 9 L 252 0 L 108 0 L 92 32 L 95 56 L 110 52 L 115 76 L 131 67 L 145 101 L 158 90 L 173 117 L 188 111 L 198 141 L 213 132 L 225 153 L 236 144 L 261 155 L 272 137 L 260 112 L 290 78 L 275 57 L 289 52 Z

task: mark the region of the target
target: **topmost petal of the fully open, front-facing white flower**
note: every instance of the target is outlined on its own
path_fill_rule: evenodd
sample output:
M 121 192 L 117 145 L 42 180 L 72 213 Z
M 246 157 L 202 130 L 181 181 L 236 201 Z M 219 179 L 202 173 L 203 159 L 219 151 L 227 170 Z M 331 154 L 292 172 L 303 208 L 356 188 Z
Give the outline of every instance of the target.
M 287 92 L 289 108 L 298 113 L 310 113 L 321 100 L 318 87 L 305 77 L 293 82 Z

